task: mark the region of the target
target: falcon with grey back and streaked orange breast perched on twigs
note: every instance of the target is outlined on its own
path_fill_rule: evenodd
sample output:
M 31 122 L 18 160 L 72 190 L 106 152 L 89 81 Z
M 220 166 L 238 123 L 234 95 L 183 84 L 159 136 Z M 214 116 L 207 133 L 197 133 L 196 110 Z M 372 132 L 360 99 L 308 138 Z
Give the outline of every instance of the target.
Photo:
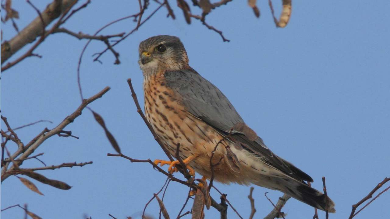
M 178 37 L 159 35 L 142 41 L 138 63 L 144 74 L 146 118 L 170 154 L 176 156 L 180 143 L 179 156 L 191 174 L 195 170 L 210 178 L 215 150 L 215 180 L 278 190 L 335 212 L 330 198 L 304 182 L 313 179 L 271 152 L 225 95 L 188 65 Z M 155 163 L 169 164 L 172 173 L 179 162 Z

